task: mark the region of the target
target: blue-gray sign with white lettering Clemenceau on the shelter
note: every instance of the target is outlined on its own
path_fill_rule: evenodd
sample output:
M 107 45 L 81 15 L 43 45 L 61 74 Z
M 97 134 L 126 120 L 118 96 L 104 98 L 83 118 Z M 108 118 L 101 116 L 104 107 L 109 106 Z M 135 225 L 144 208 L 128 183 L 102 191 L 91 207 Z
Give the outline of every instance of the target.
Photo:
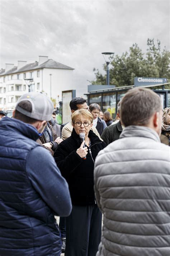
M 134 77 L 134 86 L 166 84 L 166 78 L 159 77 Z

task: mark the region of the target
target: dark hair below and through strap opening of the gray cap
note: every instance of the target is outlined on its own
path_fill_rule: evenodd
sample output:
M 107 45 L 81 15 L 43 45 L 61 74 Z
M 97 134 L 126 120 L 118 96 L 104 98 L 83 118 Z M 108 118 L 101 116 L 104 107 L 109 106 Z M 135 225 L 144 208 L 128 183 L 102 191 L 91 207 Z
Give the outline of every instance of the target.
M 18 104 L 19 107 L 27 110 L 28 112 L 32 112 L 32 105 L 28 100 L 24 100 Z M 35 123 L 39 120 L 25 116 L 24 114 L 20 113 L 18 110 L 15 109 L 14 118 L 18 119 L 20 121 L 23 121 L 24 123 Z

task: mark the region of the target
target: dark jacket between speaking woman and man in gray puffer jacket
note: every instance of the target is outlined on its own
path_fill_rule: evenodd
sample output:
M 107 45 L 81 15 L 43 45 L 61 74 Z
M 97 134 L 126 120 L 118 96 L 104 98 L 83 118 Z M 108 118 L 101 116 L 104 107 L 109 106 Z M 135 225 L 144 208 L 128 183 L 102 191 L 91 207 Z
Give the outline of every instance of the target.
M 123 129 L 121 122 L 115 123 L 115 125 L 110 125 L 106 127 L 101 134 L 101 139 L 105 142 L 106 145 L 114 142 L 115 140 L 119 139 Z

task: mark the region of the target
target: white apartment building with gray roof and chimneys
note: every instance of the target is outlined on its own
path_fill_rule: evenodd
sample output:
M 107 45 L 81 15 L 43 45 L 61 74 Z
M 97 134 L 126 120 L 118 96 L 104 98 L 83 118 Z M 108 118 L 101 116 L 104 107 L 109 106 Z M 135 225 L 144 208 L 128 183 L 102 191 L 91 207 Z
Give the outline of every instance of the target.
M 0 109 L 13 109 L 18 98 L 29 88 L 30 91 L 42 91 L 57 101 L 62 100 L 62 91 L 73 89 L 74 68 L 47 56 L 39 56 L 38 62 L 30 64 L 18 61 L 18 66 L 5 65 L 5 69 L 0 70 Z

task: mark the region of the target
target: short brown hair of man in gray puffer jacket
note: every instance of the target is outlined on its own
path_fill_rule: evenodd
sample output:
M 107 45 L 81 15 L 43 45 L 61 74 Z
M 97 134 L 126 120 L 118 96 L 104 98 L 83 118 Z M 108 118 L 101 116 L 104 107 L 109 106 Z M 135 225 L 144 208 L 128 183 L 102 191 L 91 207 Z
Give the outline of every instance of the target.
M 125 126 L 146 126 L 152 115 L 160 110 L 160 97 L 150 89 L 133 88 L 121 100 L 121 120 Z

